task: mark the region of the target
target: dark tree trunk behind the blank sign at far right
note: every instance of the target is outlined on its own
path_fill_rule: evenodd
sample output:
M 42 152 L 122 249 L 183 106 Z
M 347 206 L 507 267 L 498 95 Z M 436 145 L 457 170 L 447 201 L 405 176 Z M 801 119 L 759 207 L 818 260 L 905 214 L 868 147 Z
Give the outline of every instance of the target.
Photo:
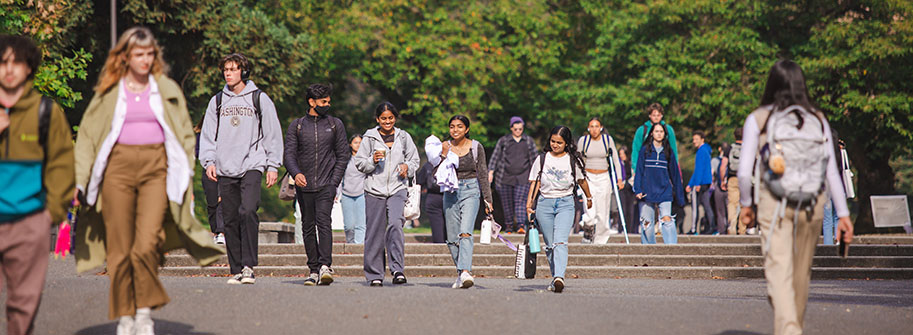
M 862 144 L 862 143 L 857 143 Z M 886 232 L 887 229 L 875 228 L 872 217 L 872 195 L 894 195 L 894 169 L 888 164 L 891 157 L 887 150 L 875 150 L 873 144 L 868 146 L 847 143 L 847 155 L 850 164 L 856 170 L 856 203 L 859 206 L 858 216 L 854 222 L 856 234 Z

